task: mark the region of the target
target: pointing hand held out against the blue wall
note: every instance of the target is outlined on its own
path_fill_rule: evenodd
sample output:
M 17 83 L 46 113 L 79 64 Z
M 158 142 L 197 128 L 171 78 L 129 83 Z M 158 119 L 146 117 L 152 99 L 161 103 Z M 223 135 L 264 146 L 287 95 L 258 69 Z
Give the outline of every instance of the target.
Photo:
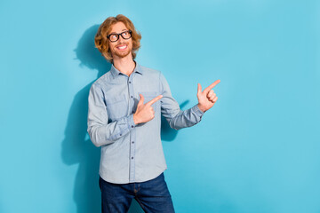
M 220 83 L 220 80 L 217 80 L 214 83 L 212 83 L 210 86 L 205 88 L 204 91 L 202 91 L 202 87 L 201 87 L 200 83 L 198 83 L 198 90 L 197 90 L 197 93 L 196 93 L 196 97 L 197 97 L 198 102 L 199 102 L 198 103 L 198 107 L 199 107 L 199 109 L 201 111 L 203 111 L 203 112 L 207 111 L 217 101 L 218 97 L 214 93 L 214 91 L 212 91 L 212 88 L 215 85 L 217 85 L 218 83 Z

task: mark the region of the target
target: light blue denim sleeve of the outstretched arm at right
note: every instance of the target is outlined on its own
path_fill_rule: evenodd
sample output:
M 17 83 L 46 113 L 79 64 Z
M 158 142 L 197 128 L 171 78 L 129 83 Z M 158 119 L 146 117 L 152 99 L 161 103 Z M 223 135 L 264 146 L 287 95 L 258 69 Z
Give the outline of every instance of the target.
M 172 98 L 169 84 L 160 73 L 160 91 L 163 98 L 161 101 L 161 113 L 169 122 L 169 125 L 174 130 L 190 127 L 201 121 L 204 112 L 202 112 L 197 104 L 187 110 L 181 110 L 178 102 Z

